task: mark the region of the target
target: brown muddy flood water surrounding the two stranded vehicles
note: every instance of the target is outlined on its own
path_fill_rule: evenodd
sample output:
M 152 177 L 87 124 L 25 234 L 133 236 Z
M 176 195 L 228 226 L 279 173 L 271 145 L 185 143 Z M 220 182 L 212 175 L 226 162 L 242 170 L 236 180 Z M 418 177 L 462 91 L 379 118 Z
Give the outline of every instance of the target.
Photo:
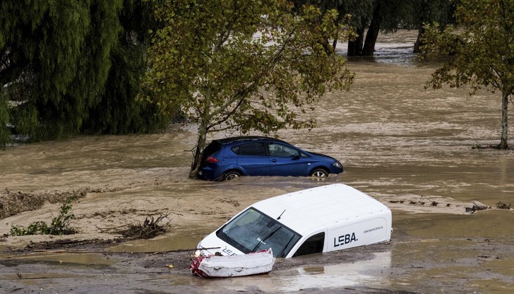
M 499 143 L 501 95 L 425 90 L 435 66 L 412 63 L 414 38 L 381 36 L 375 58 L 348 61 L 357 74 L 352 89 L 330 93 L 308 114 L 316 129 L 278 133 L 342 162 L 345 172 L 325 181 L 189 180 L 193 125 L 8 146 L 0 151 L 0 293 L 513 293 L 514 211 L 497 206 L 514 203 L 514 151 L 472 148 Z M 239 134 L 210 139 L 231 135 Z M 192 276 L 192 251 L 166 253 L 196 247 L 255 201 L 335 182 L 391 208 L 390 242 L 277 260 L 270 274 L 227 279 Z M 69 194 L 81 195 L 72 209 L 78 234 L 8 235 L 11 225 L 49 222 Z M 470 210 L 478 206 L 487 209 Z M 160 213 L 171 228 L 154 239 L 31 250 L 111 240 L 117 236 L 101 228 Z

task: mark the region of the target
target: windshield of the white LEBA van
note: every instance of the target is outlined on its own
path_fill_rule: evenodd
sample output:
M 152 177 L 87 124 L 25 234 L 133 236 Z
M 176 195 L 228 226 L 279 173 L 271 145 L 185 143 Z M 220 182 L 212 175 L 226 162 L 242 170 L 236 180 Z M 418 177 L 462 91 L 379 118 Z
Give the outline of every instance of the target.
M 216 235 L 245 254 L 271 248 L 275 257 L 285 257 L 301 237 L 253 207 L 220 228 Z

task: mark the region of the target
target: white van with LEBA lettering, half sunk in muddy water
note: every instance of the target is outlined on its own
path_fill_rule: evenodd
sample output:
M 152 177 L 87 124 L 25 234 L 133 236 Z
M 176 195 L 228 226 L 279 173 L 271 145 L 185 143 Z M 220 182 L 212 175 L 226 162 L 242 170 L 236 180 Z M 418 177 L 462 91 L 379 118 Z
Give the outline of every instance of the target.
M 198 243 L 199 254 L 271 248 L 275 257 L 330 252 L 390 240 L 390 209 L 345 184 L 258 201 Z

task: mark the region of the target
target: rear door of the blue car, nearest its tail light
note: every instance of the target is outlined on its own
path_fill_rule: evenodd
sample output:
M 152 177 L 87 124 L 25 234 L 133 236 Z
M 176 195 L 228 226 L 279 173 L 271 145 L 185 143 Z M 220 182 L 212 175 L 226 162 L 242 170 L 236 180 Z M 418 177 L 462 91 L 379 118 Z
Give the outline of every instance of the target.
M 266 144 L 261 142 L 244 143 L 232 148 L 237 154 L 237 164 L 248 175 L 270 175 L 270 159 Z

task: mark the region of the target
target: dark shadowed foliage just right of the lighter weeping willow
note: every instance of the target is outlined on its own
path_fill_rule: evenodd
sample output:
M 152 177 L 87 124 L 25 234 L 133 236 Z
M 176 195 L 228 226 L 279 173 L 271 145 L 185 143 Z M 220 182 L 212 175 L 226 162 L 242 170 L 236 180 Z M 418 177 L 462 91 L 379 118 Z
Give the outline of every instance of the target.
M 177 115 L 174 109 L 136 99 L 147 65 L 149 32 L 159 25 L 153 17 L 153 6 L 141 0 L 124 0 L 119 23 L 121 30 L 110 52 L 111 67 L 104 91 L 82 126 L 86 133 L 148 133 L 166 127 L 170 115 Z

